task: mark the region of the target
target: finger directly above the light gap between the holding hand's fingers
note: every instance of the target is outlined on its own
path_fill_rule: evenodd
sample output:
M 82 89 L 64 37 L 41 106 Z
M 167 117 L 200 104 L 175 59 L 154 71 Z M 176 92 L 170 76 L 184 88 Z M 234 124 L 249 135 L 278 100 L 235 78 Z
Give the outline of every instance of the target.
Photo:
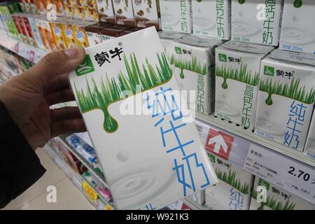
M 45 99 L 49 106 L 64 102 L 74 101 L 74 94 L 70 89 L 62 89 L 45 94 Z

